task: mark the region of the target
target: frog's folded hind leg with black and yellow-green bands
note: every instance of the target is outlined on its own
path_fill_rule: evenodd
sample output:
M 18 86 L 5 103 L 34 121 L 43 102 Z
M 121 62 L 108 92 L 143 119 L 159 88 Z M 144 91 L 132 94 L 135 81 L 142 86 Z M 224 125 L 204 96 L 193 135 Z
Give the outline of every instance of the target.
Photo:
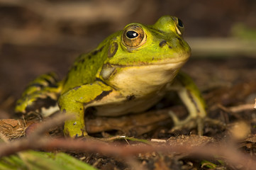
M 28 84 L 16 103 L 16 113 L 40 113 L 43 117 L 59 110 L 57 98 L 60 95 L 62 83 L 57 82 L 53 73 L 43 74 Z

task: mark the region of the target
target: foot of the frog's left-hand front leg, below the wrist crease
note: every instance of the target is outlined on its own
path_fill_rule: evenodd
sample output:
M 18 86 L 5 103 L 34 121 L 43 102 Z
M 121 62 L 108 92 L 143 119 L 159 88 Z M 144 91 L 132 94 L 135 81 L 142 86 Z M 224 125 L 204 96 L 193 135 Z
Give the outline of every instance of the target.
M 64 126 L 65 136 L 77 138 L 88 136 L 84 129 L 84 123 L 76 120 L 67 120 Z

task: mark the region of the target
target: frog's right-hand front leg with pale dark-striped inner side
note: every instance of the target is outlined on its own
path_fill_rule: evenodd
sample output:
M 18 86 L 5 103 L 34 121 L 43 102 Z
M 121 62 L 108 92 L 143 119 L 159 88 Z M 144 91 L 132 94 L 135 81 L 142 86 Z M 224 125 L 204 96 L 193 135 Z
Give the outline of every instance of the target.
M 170 112 L 174 120 L 173 130 L 182 127 L 193 128 L 197 126 L 199 135 L 202 135 L 204 128 L 203 119 L 206 117 L 206 104 L 194 81 L 187 74 L 180 72 L 172 86 L 169 86 L 169 89 L 177 91 L 179 98 L 181 98 L 189 111 L 189 116 L 184 120 L 179 120 L 174 113 Z

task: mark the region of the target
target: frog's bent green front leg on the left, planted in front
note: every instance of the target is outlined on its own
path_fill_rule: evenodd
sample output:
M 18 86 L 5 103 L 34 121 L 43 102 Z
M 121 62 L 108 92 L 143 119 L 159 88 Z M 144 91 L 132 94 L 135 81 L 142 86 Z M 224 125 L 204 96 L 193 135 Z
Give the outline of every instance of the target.
M 102 102 L 102 98 L 113 93 L 111 86 L 96 81 L 93 84 L 85 84 L 74 87 L 60 96 L 59 105 L 60 111 L 67 115 L 72 115 L 74 118 L 65 121 L 64 132 L 69 137 L 86 136 L 84 125 L 84 109 L 89 104 Z M 102 103 L 101 102 L 101 103 Z

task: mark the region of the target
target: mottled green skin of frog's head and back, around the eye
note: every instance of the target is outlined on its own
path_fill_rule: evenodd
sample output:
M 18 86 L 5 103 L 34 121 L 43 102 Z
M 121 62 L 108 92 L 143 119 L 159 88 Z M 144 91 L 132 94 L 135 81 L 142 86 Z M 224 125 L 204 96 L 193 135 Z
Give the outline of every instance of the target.
M 133 25 L 130 23 L 128 26 Z M 159 64 L 166 62 L 175 62 L 176 60 L 186 61 L 190 55 L 190 47 L 178 35 L 174 20 L 169 16 L 163 16 L 152 26 L 141 26 L 146 35 L 145 45 L 135 50 L 129 50 L 121 41 L 123 30 L 108 36 L 95 50 L 85 55 L 80 55 L 74 62 L 72 69 L 67 75 L 62 94 L 75 86 L 89 84 L 99 78 L 99 72 L 104 64 L 117 64 L 123 66 L 137 66 L 145 64 Z M 166 40 L 168 45 L 160 47 L 160 42 Z M 117 42 L 118 50 L 113 57 L 108 57 L 109 46 Z M 152 60 L 152 57 L 154 59 Z

